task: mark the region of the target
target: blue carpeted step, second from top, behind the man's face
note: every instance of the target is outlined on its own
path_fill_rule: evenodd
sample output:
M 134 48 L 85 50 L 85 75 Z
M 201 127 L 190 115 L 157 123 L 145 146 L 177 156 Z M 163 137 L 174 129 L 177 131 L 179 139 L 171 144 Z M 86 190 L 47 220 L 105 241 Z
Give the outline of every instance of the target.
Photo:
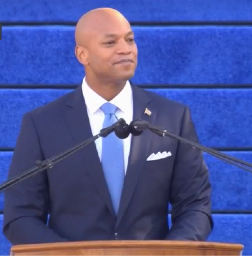
M 133 30 L 139 49 L 137 84 L 251 84 L 252 27 Z M 3 27 L 0 84 L 78 84 L 84 74 L 74 46 L 72 26 Z

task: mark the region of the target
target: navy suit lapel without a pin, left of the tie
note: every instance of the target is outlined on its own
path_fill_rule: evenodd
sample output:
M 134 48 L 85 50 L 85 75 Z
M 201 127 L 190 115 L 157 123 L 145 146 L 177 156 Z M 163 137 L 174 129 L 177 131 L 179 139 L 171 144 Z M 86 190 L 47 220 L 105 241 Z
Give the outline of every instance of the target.
M 81 86 L 79 86 L 71 96 L 72 97 L 66 104 L 68 106 L 66 110 L 66 121 L 73 139 L 73 145 L 78 145 L 79 143 L 91 138 L 93 135 Z M 92 182 L 96 186 L 97 191 L 100 193 L 107 207 L 111 213 L 115 215 L 95 143 L 90 143 L 74 154 L 78 155 L 79 159 L 82 160 L 82 166 L 80 166 L 80 169 L 88 172 Z

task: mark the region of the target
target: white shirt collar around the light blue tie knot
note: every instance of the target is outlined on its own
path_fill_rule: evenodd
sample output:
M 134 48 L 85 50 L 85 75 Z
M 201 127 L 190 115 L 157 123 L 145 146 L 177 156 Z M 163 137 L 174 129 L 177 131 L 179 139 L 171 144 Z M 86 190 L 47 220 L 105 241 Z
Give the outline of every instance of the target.
M 82 93 L 87 110 L 91 115 L 94 114 L 103 104 L 108 102 L 88 86 L 85 77 L 82 82 Z M 132 105 L 132 89 L 129 81 L 126 82 L 123 90 L 117 96 L 115 96 L 110 103 L 117 106 L 124 113 L 129 110 Z

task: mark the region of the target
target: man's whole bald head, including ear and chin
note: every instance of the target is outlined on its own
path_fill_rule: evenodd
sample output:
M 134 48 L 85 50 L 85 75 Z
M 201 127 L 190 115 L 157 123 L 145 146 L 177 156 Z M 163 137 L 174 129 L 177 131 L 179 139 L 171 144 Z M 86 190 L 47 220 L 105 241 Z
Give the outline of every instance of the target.
M 129 22 L 117 10 L 99 8 L 84 14 L 76 25 L 75 40 L 75 55 L 89 82 L 92 78 L 112 83 L 133 76 L 137 47 Z

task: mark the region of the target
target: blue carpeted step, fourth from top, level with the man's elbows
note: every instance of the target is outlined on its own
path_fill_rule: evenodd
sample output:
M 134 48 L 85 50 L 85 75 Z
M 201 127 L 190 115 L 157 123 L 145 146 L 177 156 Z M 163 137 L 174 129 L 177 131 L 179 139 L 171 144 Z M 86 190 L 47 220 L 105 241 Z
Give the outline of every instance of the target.
M 225 152 L 233 157 L 252 163 L 252 152 Z M 7 179 L 12 152 L 0 151 L 0 183 Z M 212 184 L 213 211 L 252 211 L 252 174 L 235 166 L 220 161 L 209 155 L 205 156 Z M 35 166 L 35 163 L 34 163 Z M 237 182 L 239 181 L 239 182 Z M 3 195 L 0 195 L 0 211 L 3 210 Z

